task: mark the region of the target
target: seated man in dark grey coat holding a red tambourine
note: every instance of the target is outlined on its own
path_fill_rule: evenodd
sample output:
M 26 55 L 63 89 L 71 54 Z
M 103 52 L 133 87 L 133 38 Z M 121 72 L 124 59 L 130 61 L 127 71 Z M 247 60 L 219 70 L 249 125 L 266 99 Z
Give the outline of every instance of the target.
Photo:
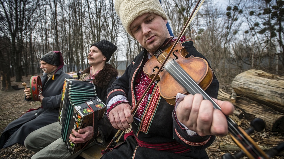
M 31 89 L 33 87 L 31 85 L 32 88 L 27 88 L 24 92 L 26 101 L 40 101 L 41 106 L 9 123 L 1 134 L 0 149 L 16 143 L 24 144 L 29 133 L 57 121 L 64 79 L 72 77 L 61 70 L 64 63 L 59 51 L 51 51 L 43 55 L 40 58 L 40 64 L 43 76 L 35 82 L 42 84 L 39 86 L 42 90 L 38 95 L 36 94 L 35 98 L 32 97 Z

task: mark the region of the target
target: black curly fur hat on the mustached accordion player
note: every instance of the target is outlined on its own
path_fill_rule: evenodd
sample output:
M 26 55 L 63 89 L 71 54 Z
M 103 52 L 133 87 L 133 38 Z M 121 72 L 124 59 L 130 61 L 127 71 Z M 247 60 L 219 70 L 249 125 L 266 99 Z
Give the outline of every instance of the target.
M 99 42 L 96 42 L 96 43 L 92 44 L 91 47 L 92 46 L 96 46 L 99 50 L 101 50 L 103 55 L 105 55 L 105 57 L 107 58 L 106 62 L 109 61 L 109 59 L 111 58 L 112 54 L 117 49 L 117 46 L 115 46 L 113 43 L 111 43 L 111 42 L 109 42 L 107 40 L 101 40 Z

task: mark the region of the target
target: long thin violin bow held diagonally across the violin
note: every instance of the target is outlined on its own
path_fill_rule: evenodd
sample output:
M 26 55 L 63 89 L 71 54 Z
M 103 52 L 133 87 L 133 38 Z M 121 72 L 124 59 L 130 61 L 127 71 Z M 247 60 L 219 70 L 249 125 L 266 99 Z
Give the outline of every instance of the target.
M 181 36 L 184 34 L 185 30 L 187 29 L 187 27 L 189 26 L 190 22 L 192 21 L 192 19 L 194 18 L 194 16 L 196 15 L 196 13 L 198 12 L 198 10 L 200 9 L 201 5 L 203 4 L 203 2 L 205 0 L 202 0 L 202 3 L 199 5 L 201 0 L 199 0 L 197 2 L 197 4 L 195 5 L 193 11 L 191 12 L 189 19 L 187 20 L 187 22 L 185 23 L 185 26 L 183 27 L 183 29 L 181 30 L 177 40 L 175 41 L 175 43 L 173 44 L 171 50 L 169 51 L 169 54 L 167 55 L 167 57 L 165 58 L 165 61 L 161 64 L 161 67 L 159 68 L 159 70 L 156 72 L 155 76 L 153 77 L 153 79 L 151 80 L 150 84 L 148 85 L 148 87 L 146 88 L 145 92 L 143 93 L 143 95 L 141 96 L 141 98 L 139 99 L 139 101 L 136 103 L 136 105 L 133 107 L 131 114 L 135 114 L 137 111 L 137 107 L 140 105 L 141 101 L 144 99 L 146 93 L 149 91 L 151 85 L 154 83 L 154 81 L 156 80 L 159 72 L 161 72 L 163 66 L 165 65 L 167 59 L 169 58 L 170 54 L 173 52 L 173 49 L 175 48 L 175 46 L 177 45 L 178 41 L 180 40 Z M 199 7 L 198 7 L 199 5 Z M 197 8 L 198 7 L 198 8 Z M 118 130 L 117 133 L 115 134 L 115 136 L 113 136 L 113 138 L 111 139 L 111 142 L 109 143 L 109 145 L 105 148 L 105 150 L 103 150 L 101 153 L 105 154 L 108 151 L 110 151 L 111 149 L 109 148 L 115 148 L 116 144 L 119 142 L 119 139 L 121 138 L 122 134 L 124 131 L 122 130 Z

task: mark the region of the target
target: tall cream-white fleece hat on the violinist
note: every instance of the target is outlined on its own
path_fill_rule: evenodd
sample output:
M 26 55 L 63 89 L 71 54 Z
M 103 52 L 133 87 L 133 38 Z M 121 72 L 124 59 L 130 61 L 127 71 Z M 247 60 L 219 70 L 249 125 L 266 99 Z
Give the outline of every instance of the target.
M 133 38 L 134 36 L 131 33 L 130 25 L 134 19 L 140 15 L 144 13 L 155 13 L 168 20 L 159 0 L 115 0 L 114 7 L 126 32 Z

